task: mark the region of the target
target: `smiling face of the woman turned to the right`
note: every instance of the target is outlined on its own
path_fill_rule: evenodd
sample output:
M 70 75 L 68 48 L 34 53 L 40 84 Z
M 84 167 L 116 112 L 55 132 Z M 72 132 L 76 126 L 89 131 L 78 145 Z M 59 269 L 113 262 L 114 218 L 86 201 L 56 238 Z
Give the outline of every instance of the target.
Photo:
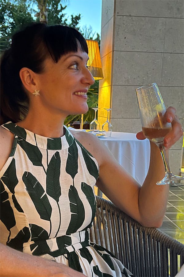
M 94 78 L 87 69 L 88 55 L 80 48 L 57 63 L 46 59 L 44 72 L 37 74 L 42 106 L 55 114 L 82 114 L 88 110 L 87 91 Z

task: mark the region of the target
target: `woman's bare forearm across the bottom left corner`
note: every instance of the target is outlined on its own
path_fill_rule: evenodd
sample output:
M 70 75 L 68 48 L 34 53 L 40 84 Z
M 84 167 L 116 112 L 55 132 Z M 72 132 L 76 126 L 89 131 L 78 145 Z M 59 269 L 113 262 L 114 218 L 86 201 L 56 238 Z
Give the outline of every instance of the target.
M 1 276 L 85 276 L 62 263 L 56 263 L 37 256 L 28 255 L 3 244 L 1 244 L 0 247 Z

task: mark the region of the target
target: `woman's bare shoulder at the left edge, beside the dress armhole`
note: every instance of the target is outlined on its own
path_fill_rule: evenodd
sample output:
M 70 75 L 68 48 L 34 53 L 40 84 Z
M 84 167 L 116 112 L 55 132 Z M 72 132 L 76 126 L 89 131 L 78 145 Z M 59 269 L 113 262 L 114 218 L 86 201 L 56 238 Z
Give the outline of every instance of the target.
M 13 145 L 14 134 L 0 127 L 0 170 L 6 163 Z

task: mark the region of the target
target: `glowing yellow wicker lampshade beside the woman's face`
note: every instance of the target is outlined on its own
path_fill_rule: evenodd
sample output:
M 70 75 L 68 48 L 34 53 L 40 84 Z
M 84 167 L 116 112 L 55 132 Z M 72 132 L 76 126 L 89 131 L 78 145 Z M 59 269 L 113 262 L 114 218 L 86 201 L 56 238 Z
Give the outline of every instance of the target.
M 103 79 L 102 62 L 98 42 L 96 40 L 86 39 L 88 46 L 89 60 L 87 62 L 88 69 L 95 80 Z

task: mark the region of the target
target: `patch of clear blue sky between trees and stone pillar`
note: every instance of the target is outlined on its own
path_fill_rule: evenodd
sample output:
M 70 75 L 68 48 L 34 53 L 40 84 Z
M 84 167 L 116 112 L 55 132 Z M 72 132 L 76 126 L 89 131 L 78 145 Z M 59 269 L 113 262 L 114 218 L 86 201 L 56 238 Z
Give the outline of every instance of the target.
M 66 17 L 80 13 L 81 20 L 78 26 L 91 26 L 93 33 L 97 32 L 101 36 L 102 0 L 68 0 L 66 4 Z

